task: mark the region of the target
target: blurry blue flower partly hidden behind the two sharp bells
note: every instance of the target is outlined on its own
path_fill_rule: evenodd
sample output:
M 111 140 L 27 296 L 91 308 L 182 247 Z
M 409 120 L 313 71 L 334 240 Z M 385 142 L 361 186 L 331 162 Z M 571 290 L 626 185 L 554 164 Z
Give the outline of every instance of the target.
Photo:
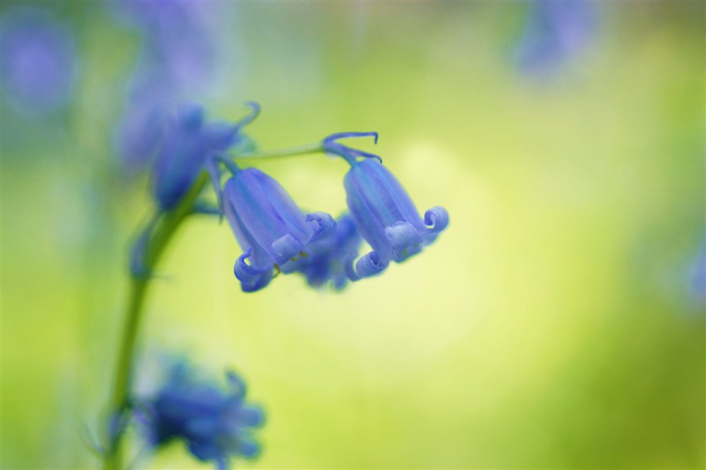
M 328 236 L 306 246 L 306 253 L 282 265 L 282 272 L 301 272 L 311 287 L 323 287 L 330 282 L 334 289 L 345 287 L 355 277 L 353 263 L 363 242 L 353 217 L 344 214 L 336 219 L 336 228 Z

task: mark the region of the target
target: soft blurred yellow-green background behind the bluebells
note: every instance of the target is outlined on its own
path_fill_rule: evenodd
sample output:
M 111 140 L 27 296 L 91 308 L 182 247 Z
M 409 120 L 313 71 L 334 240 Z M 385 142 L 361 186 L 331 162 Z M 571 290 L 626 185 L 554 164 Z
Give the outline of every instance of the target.
M 25 2 L 23 2 L 25 3 Z M 2 105 L 1 435 L 6 469 L 92 468 L 128 243 L 152 210 L 112 132 L 140 41 L 104 2 L 40 2 L 76 37 L 65 112 Z M 548 76 L 513 61 L 527 4 L 212 3 L 228 69 L 201 97 L 263 149 L 378 131 L 433 246 L 342 293 L 296 275 L 244 294 L 227 224 L 179 231 L 140 345 L 234 368 L 265 406 L 241 468 L 703 468 L 703 2 L 597 2 Z M 4 2 L 5 13 L 16 4 Z M 257 163 L 302 207 L 345 208 L 345 162 Z M 183 447 L 143 462 L 207 468 Z

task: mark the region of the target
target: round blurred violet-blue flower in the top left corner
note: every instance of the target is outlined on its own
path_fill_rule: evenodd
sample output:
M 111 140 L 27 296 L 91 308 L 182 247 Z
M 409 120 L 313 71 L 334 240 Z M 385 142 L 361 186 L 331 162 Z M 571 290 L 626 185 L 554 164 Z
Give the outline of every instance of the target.
M 0 19 L 0 83 L 17 112 L 45 116 L 64 107 L 77 64 L 71 32 L 47 11 L 20 7 Z

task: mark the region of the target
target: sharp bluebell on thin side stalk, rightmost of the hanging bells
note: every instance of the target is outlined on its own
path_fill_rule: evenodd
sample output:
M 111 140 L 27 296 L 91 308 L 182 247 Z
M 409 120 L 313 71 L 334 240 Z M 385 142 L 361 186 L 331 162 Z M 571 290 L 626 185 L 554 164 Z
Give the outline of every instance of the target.
M 351 168 L 343 179 L 348 210 L 357 229 L 373 251 L 357 260 L 352 280 L 378 275 L 390 260 L 403 261 L 429 245 L 448 225 L 448 212 L 436 206 L 422 220 L 395 176 L 383 167 L 380 157 L 337 143 L 347 137 L 377 133 L 339 133 L 323 141 L 326 152 L 345 158 Z M 364 157 L 359 161 L 357 157 Z

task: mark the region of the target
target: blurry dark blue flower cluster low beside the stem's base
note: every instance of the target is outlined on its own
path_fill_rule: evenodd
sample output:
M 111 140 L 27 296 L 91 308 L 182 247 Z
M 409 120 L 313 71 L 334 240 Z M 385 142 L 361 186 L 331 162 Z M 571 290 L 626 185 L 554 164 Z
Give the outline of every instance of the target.
M 157 449 L 183 440 L 194 457 L 228 467 L 229 457 L 256 457 L 260 446 L 252 430 L 264 422 L 260 406 L 245 402 L 245 382 L 227 374 L 228 387 L 196 377 L 188 363 L 174 363 L 162 387 L 136 400 L 136 417 L 148 445 Z

